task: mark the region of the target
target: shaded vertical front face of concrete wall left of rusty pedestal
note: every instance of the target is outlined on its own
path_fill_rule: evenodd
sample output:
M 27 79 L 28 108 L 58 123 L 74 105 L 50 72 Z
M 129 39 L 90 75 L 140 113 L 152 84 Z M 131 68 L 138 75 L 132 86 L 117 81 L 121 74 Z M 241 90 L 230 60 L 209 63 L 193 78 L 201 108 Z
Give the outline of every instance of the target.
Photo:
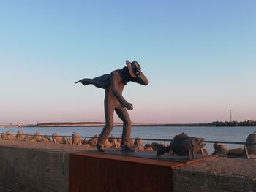
M 69 154 L 0 147 L 0 185 L 13 191 L 67 191 Z

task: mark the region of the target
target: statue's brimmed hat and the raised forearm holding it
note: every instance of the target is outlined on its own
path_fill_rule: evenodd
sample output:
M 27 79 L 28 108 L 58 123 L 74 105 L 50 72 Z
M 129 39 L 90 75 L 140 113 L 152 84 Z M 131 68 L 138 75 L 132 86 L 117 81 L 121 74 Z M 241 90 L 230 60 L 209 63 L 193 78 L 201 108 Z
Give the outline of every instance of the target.
M 127 60 L 126 64 L 127 64 L 127 68 L 129 69 L 129 74 L 132 77 L 131 81 L 138 82 L 141 85 L 148 85 L 148 79 L 143 74 L 143 72 L 141 72 L 141 67 L 137 61 L 132 61 L 131 63 Z

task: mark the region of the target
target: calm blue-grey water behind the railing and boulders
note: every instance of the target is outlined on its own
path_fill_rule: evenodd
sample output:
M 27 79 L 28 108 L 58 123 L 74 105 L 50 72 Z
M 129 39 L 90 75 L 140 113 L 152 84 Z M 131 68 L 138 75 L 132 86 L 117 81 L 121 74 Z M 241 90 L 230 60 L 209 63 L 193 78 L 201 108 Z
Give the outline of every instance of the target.
M 0 128 L 0 132 L 11 131 L 16 134 L 18 130 L 24 131 L 24 134 L 34 134 L 39 131 L 41 134 L 53 134 L 70 136 L 72 132 L 78 132 L 80 136 L 94 136 L 102 131 L 102 127 L 23 127 L 23 128 Z M 131 137 L 151 138 L 151 139 L 173 139 L 176 134 L 184 132 L 191 137 L 203 137 L 206 140 L 217 140 L 225 142 L 246 142 L 249 134 L 256 131 L 256 127 L 161 127 L 145 126 L 132 127 Z M 114 127 L 111 134 L 115 137 L 121 137 L 122 128 Z M 151 141 L 148 141 L 151 142 Z M 146 143 L 146 142 L 145 142 Z M 213 144 L 207 144 L 206 149 L 209 153 L 214 151 Z M 243 147 L 241 145 L 227 145 L 230 148 Z

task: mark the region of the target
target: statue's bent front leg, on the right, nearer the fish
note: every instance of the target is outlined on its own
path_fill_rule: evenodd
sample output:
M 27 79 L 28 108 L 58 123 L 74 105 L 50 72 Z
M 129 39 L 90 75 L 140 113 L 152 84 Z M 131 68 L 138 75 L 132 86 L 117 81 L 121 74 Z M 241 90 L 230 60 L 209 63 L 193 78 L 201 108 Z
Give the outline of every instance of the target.
M 129 146 L 130 144 L 130 136 L 131 136 L 131 126 L 132 122 L 129 119 L 129 114 L 124 107 L 116 108 L 116 114 L 123 121 L 123 133 L 121 136 L 121 145 Z

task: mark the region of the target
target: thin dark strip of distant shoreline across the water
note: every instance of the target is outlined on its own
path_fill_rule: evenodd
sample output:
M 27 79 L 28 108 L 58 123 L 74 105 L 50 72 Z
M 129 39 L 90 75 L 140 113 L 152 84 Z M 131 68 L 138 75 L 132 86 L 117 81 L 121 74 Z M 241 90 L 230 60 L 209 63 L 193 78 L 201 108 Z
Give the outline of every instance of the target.
M 114 123 L 114 126 L 122 126 L 123 123 Z M 37 123 L 34 125 L 0 125 L 0 127 L 99 127 L 105 126 L 105 122 L 51 122 Z M 132 123 L 132 126 L 256 126 L 255 120 L 222 122 L 214 121 L 212 123 Z

